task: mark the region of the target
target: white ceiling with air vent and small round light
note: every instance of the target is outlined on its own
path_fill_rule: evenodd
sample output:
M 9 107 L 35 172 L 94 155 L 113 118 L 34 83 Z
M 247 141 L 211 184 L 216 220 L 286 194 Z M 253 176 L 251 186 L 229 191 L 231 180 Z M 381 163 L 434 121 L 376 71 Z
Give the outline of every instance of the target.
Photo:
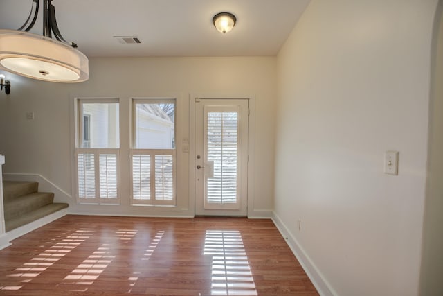
M 40 1 L 42 9 L 42 1 Z M 53 0 L 60 32 L 89 57 L 276 55 L 309 0 Z M 17 29 L 32 0 L 0 0 L 0 28 Z M 237 24 L 222 35 L 218 12 Z M 42 14 L 31 33 L 42 34 Z M 136 36 L 120 44 L 113 36 Z

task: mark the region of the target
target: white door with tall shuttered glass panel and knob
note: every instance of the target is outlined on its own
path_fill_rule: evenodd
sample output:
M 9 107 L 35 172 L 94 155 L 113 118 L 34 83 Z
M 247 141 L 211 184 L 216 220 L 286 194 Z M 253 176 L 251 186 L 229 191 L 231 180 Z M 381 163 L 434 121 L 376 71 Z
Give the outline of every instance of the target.
M 248 100 L 195 101 L 195 214 L 246 216 Z

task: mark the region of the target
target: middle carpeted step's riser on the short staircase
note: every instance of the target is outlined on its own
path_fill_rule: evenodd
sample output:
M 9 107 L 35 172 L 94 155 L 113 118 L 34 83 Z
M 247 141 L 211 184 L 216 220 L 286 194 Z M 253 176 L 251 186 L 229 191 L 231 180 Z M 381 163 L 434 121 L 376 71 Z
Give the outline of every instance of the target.
M 5 220 L 17 218 L 54 201 L 54 193 L 34 193 L 4 202 Z

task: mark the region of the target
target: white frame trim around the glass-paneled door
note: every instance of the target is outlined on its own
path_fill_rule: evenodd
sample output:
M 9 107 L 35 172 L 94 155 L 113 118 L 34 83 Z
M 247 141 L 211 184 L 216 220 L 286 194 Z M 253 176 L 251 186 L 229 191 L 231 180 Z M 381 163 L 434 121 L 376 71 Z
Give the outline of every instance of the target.
M 247 99 L 249 101 L 248 117 L 248 195 L 246 197 L 247 216 L 254 216 L 254 167 L 255 167 L 255 96 L 203 96 L 190 94 L 189 96 L 189 204 L 195 214 L 195 99 Z

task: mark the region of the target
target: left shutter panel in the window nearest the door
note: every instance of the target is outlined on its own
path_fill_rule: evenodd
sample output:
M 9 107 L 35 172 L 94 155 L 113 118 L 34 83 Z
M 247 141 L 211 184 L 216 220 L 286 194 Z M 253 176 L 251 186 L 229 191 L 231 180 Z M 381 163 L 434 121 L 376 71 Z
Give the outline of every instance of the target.
M 151 199 L 150 155 L 132 155 L 132 198 Z

